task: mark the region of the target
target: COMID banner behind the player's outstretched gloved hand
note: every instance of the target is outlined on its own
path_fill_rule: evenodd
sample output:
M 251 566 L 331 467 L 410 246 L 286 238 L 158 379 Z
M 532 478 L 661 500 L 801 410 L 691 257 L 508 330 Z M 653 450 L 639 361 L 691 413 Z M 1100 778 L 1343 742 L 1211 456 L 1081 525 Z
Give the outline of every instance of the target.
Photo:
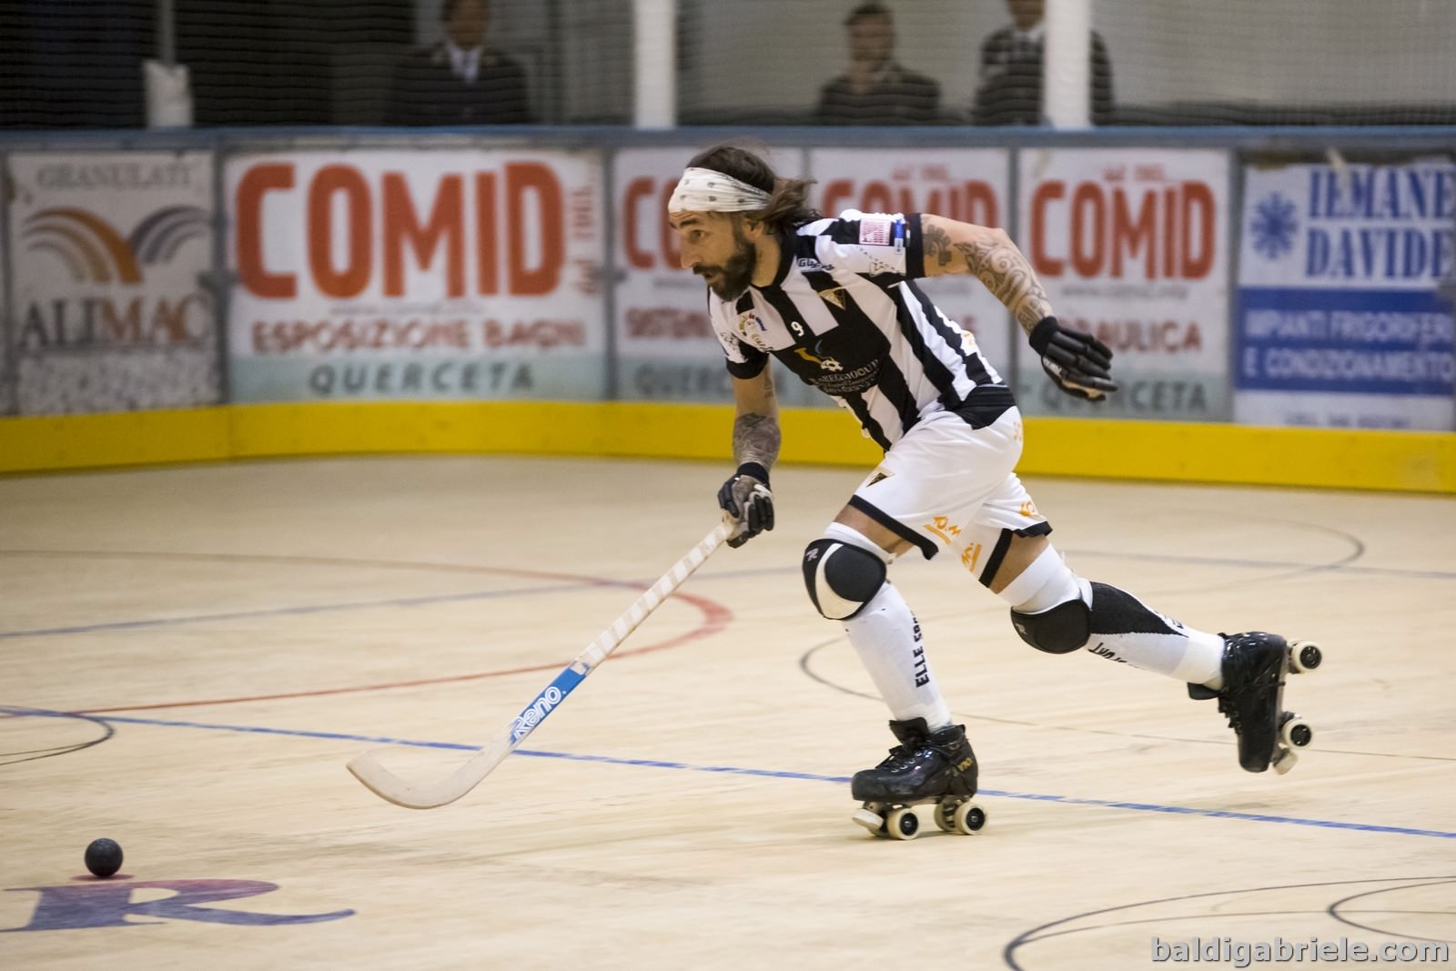
M 1117 395 L 1061 393 L 1018 358 L 1034 415 L 1229 418 L 1229 162 L 1222 150 L 1025 148 L 1018 245 L 1057 319 L 1112 348 Z

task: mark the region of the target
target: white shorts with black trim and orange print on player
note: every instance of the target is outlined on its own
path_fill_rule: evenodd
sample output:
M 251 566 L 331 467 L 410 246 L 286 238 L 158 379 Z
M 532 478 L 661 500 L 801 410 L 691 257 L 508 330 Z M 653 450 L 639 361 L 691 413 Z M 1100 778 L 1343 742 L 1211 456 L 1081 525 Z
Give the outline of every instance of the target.
M 989 587 L 1012 534 L 1051 531 L 1016 477 L 1021 443 L 1015 408 L 984 428 L 938 412 L 890 447 L 849 504 L 926 559 L 949 549 Z

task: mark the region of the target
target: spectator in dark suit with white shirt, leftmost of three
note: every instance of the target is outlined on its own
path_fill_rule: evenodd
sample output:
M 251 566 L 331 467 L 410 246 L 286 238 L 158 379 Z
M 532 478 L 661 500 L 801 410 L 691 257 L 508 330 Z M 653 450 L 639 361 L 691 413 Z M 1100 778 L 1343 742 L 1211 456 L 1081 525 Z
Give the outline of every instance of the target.
M 446 39 L 409 54 L 395 71 L 393 125 L 520 125 L 534 121 L 526 71 L 485 39 L 489 0 L 446 0 Z

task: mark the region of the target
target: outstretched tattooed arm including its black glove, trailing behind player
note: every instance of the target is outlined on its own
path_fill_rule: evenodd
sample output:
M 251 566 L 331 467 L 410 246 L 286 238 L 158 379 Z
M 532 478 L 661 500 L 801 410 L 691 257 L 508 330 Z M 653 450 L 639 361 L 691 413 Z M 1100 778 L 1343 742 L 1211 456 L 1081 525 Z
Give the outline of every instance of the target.
M 925 275 L 974 274 L 1010 309 L 1047 376 L 1067 395 L 1098 400 L 1117 390 L 1108 373 L 1112 352 L 1091 333 L 1057 323 L 1051 301 L 1031 262 L 1005 230 L 958 223 L 943 215 L 920 217 Z

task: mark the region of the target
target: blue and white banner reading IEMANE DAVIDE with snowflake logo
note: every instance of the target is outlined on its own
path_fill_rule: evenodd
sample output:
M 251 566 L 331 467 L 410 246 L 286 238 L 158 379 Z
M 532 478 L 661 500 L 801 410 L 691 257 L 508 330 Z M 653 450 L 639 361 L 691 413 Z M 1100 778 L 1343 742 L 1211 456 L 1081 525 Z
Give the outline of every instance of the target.
M 1235 416 L 1453 428 L 1456 165 L 1243 169 Z

